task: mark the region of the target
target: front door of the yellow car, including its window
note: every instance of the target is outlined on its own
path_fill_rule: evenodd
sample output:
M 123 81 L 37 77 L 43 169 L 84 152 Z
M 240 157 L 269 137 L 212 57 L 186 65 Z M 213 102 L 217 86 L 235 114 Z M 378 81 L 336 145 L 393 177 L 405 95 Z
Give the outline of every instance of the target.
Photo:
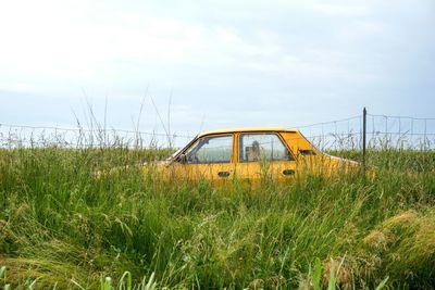
M 233 134 L 198 138 L 183 152 L 181 162 L 174 164 L 177 178 L 207 179 L 213 185 L 227 182 L 234 175 L 233 143 Z

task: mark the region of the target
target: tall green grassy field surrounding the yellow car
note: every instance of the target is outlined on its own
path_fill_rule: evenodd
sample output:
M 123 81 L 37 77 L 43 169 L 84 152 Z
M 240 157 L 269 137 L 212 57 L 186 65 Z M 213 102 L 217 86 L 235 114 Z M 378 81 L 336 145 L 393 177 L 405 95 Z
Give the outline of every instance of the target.
M 333 152 L 359 159 L 359 152 Z M 135 167 L 164 151 L 0 151 L 0 289 L 432 289 L 435 152 L 233 191 Z

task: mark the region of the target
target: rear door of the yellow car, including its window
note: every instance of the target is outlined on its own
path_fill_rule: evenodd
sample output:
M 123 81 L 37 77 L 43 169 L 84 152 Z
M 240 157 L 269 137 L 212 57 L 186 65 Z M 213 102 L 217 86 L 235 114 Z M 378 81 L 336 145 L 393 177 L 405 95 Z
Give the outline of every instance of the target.
M 295 157 L 278 133 L 241 133 L 237 139 L 235 178 L 254 185 L 264 178 L 285 182 L 296 174 Z

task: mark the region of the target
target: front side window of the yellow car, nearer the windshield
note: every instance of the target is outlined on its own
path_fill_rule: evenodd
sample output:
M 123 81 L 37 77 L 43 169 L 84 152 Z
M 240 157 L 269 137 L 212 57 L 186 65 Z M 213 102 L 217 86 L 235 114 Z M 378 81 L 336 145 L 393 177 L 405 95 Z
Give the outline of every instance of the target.
M 187 163 L 229 163 L 233 136 L 203 137 L 186 152 Z

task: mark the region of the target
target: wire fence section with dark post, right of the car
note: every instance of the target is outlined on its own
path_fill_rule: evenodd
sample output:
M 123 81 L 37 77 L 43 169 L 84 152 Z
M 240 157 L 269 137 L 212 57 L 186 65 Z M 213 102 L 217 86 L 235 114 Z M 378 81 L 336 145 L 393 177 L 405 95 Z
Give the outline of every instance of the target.
M 366 149 L 435 149 L 435 118 L 410 116 L 364 115 L 297 128 L 322 150 L 362 150 L 365 134 Z

